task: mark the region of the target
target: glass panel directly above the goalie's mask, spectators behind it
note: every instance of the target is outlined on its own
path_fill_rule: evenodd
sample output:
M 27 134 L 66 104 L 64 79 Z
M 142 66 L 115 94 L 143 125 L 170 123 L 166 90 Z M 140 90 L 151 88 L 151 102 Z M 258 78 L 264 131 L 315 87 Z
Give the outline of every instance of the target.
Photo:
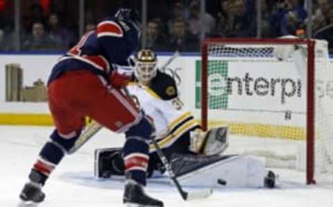
M 161 13 L 160 8 L 168 12 Z M 190 6 L 185 0 L 149 0 L 146 47 L 156 51 L 199 51 L 200 26 L 195 22 L 199 15 L 200 3 Z M 191 20 L 193 25 L 189 24 Z M 198 28 L 191 30 L 190 26 Z

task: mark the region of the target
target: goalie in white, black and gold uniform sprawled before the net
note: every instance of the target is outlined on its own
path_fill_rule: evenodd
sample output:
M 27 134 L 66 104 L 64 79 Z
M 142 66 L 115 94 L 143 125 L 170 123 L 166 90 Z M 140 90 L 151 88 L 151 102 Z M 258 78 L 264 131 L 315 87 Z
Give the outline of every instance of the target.
M 176 81 L 157 69 L 157 57 L 151 49 L 135 55 L 135 81 L 128 92 L 153 117 L 157 144 L 167 156 L 173 172 L 183 185 L 231 187 L 268 187 L 275 185 L 275 174 L 264 162 L 252 156 L 223 156 L 228 147 L 228 127 L 203 132 L 191 112 L 178 97 Z M 147 176 L 164 172 L 164 165 L 150 144 Z M 94 176 L 110 178 L 124 174 L 121 148 L 96 149 Z

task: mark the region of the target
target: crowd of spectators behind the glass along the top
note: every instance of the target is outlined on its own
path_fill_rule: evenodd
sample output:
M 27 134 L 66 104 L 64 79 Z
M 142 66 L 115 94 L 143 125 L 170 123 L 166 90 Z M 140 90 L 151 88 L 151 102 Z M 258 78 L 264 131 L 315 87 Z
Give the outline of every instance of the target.
M 86 1 L 89 6 L 90 0 Z M 75 19 L 75 15 L 64 14 L 64 5 L 56 3 L 62 1 L 48 1 L 51 3 L 47 9 L 40 2 L 31 1 L 26 14 L 22 15 L 20 49 L 69 49 L 79 38 L 78 15 Z M 92 1 L 90 5 L 94 6 L 93 2 L 99 1 Z M 148 0 L 146 45 L 156 51 L 199 51 L 203 38 L 256 38 L 258 24 L 262 38 L 282 35 L 307 38 L 305 31 L 311 22 L 312 37 L 328 40 L 333 52 L 333 0 L 313 0 L 311 17 L 305 0 L 261 0 L 260 22 L 257 22 L 256 3 L 257 0 L 206 0 L 205 13 L 201 14 L 199 0 Z M 136 2 L 134 6 L 137 5 Z M 78 13 L 78 7 L 74 13 Z M 105 11 L 105 15 L 110 14 Z M 10 17 L 4 15 L 1 8 L 0 19 L 0 50 L 14 50 L 14 26 L 8 23 Z M 85 8 L 85 31 L 94 30 L 100 20 L 99 10 Z

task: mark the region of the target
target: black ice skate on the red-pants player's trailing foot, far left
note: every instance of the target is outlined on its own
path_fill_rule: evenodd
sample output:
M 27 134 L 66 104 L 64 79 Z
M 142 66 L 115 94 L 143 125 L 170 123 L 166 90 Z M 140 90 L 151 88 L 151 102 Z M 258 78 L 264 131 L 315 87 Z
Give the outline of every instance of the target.
M 21 199 L 19 207 L 37 206 L 45 198 L 45 194 L 42 192 L 42 185 L 33 182 L 26 183 L 19 194 L 19 198 Z

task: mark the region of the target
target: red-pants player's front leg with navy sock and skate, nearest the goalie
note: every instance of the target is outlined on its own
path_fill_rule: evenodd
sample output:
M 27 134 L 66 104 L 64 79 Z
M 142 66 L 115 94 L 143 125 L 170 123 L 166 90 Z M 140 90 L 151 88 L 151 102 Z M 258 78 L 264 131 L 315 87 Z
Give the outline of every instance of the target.
M 123 146 L 126 174 L 123 202 L 163 206 L 161 201 L 148 197 L 143 190 L 149 160 L 148 140 L 154 130 L 153 124 L 121 90 L 112 88 L 105 93 L 95 92 L 94 96 L 98 101 L 89 106 L 87 115 L 114 132 L 126 134 Z

